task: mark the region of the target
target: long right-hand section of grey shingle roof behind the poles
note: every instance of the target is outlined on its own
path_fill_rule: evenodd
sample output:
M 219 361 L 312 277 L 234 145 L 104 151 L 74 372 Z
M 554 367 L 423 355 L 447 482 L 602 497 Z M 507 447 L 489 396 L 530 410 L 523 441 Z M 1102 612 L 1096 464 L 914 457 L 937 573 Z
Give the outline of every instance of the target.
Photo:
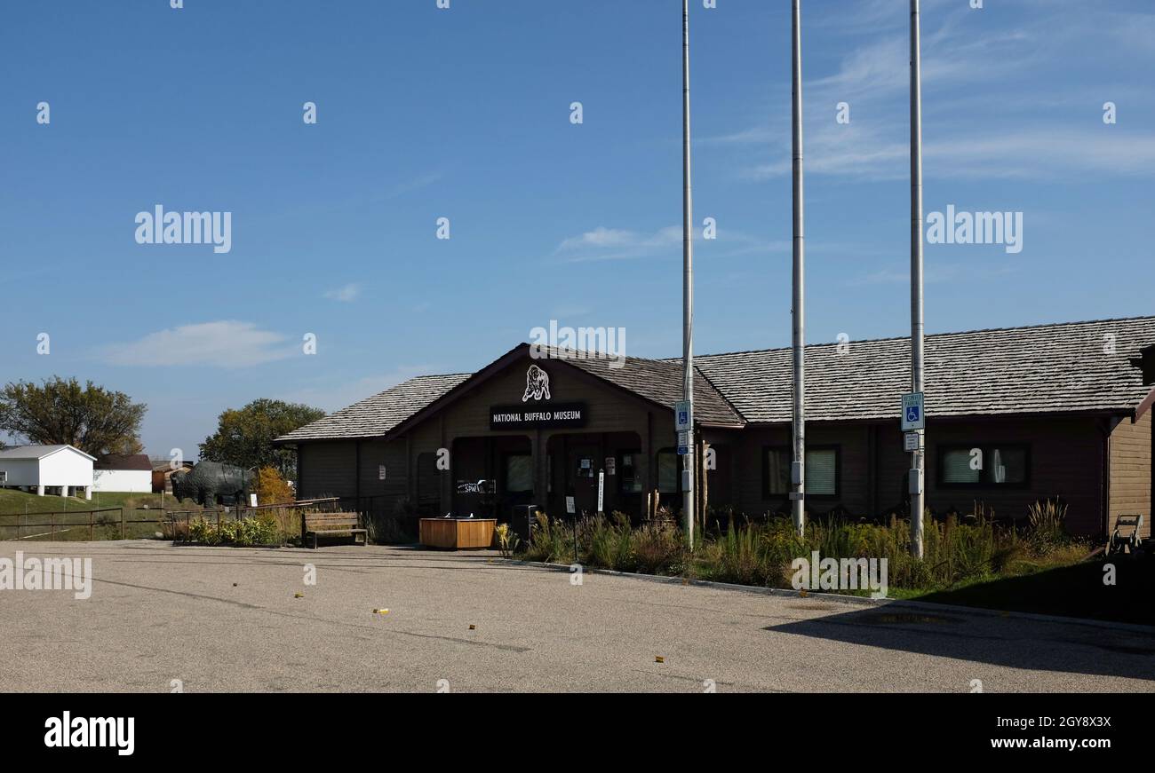
M 927 336 L 926 415 L 1131 411 L 1152 386 L 1130 359 L 1152 345 L 1155 317 Z M 747 421 L 790 421 L 789 348 L 694 363 Z M 807 421 L 896 418 L 908 391 L 909 338 L 806 347 Z

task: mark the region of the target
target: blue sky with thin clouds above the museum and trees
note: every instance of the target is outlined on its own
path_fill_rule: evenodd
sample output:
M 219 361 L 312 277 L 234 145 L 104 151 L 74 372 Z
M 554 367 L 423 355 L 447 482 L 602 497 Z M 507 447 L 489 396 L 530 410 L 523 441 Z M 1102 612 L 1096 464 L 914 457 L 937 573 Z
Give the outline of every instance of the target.
M 925 208 L 1022 212 L 1023 249 L 929 245 L 929 331 L 1152 313 L 1155 7 L 983 5 L 925 0 Z M 677 0 L 185 6 L 0 9 L 0 380 L 125 391 L 192 457 L 226 407 L 340 408 L 550 320 L 680 353 Z M 691 2 L 702 353 L 790 337 L 789 3 L 717 6 Z M 807 338 L 906 335 L 907 2 L 803 6 Z M 156 204 L 232 212 L 231 252 L 136 243 Z

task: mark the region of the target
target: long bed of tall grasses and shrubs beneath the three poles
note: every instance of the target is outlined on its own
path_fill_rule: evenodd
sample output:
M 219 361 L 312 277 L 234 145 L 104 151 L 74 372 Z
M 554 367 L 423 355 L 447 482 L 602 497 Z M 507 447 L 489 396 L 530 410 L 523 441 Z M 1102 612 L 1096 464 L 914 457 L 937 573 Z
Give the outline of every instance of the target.
M 817 550 L 824 558 L 886 558 L 892 587 L 940 590 L 1079 561 L 1086 546 L 1063 535 L 1066 509 L 1051 503 L 1050 510 L 1046 505 L 1035 510 L 1042 515 L 1029 519 L 1024 539 L 1014 528 L 996 524 L 985 508 L 977 517 L 968 517 L 968 523 L 960 523 L 953 513 L 934 520 L 926 512 L 922 560 L 910 555 L 910 521 L 894 516 L 886 524 L 815 518 L 802 538 L 789 517 L 769 517 L 761 523 L 733 518 L 725 531 L 716 527 L 705 532 L 691 554 L 672 520 L 631 527 L 626 516 L 613 513 L 612 519 L 578 521 L 578 554 L 579 562 L 590 566 L 789 587 L 791 562 L 808 560 Z M 574 531 L 573 521 L 537 513 L 526 557 L 572 562 Z

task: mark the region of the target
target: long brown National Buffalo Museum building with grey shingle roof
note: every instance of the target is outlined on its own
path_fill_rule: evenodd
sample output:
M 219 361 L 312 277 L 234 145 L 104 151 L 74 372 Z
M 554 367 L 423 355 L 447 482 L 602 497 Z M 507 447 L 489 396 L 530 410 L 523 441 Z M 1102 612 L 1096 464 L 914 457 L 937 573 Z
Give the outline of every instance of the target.
M 694 359 L 698 511 L 789 512 L 791 352 Z M 1058 497 L 1067 528 L 1150 530 L 1155 317 L 926 337 L 927 506 L 1023 518 Z M 806 347 L 806 510 L 909 511 L 900 429 L 910 339 Z M 298 497 L 408 516 L 641 519 L 680 506 L 681 360 L 521 344 L 472 374 L 410 378 L 306 425 Z M 710 516 L 714 517 L 714 516 Z

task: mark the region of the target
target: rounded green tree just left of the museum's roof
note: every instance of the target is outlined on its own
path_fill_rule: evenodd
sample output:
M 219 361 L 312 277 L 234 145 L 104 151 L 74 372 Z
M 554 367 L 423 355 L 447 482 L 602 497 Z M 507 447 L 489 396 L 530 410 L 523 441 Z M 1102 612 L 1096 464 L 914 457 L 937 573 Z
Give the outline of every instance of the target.
M 273 441 L 316 421 L 325 411 L 300 403 L 253 400 L 240 410 L 221 414 L 216 433 L 200 444 L 201 458 L 238 467 L 274 467 L 288 480 L 296 479 L 297 455 Z

